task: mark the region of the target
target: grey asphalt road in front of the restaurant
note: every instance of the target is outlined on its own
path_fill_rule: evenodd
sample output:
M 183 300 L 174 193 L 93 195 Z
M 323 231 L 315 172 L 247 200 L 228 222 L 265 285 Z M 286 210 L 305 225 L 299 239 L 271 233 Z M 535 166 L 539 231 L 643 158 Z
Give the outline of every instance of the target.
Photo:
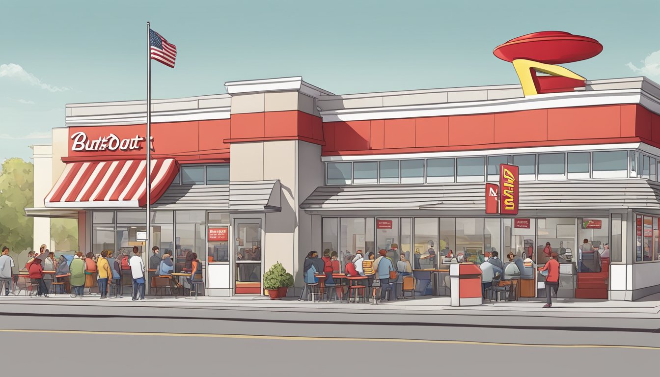
M 121 360 L 126 376 L 623 376 L 657 370 L 660 333 L 653 329 L 525 327 L 520 318 L 477 318 L 477 326 L 414 315 L 322 314 L 140 308 L 30 306 L 0 310 L 0 355 L 22 376 L 60 376 L 75 368 L 114 376 L 99 360 Z M 92 310 L 93 309 L 93 310 Z M 136 310 L 138 308 L 135 308 Z M 103 313 L 107 315 L 104 315 Z M 123 310 L 125 312 L 125 310 Z M 176 313 L 174 316 L 172 314 Z M 193 316 L 193 314 L 195 314 Z M 449 319 L 446 316 L 445 319 Z M 463 318 L 465 319 L 465 318 Z M 527 318 L 529 320 L 529 318 Z M 539 319 L 543 322 L 543 319 Z M 451 321 L 451 320 L 450 320 Z M 462 321 L 465 323 L 466 321 Z M 490 323 L 489 323 L 490 322 Z M 36 349 L 46 345 L 48 351 Z M 132 355 L 132 356 L 131 356 Z M 185 360 L 185 359 L 189 360 Z M 29 372 L 26 372 L 29 368 Z M 527 372 L 521 373 L 526 370 Z M 578 373 L 579 372 L 579 373 Z

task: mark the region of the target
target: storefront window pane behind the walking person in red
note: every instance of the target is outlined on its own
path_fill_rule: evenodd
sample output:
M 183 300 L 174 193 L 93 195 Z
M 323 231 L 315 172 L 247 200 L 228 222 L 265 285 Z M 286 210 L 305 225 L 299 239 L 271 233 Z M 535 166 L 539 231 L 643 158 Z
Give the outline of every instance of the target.
M 576 219 L 554 217 L 537 219 L 537 242 L 537 257 L 535 259 L 537 263 L 543 264 L 550 260 L 552 252 L 559 255 L 560 262 L 574 261 Z M 548 248 L 548 243 L 550 248 Z

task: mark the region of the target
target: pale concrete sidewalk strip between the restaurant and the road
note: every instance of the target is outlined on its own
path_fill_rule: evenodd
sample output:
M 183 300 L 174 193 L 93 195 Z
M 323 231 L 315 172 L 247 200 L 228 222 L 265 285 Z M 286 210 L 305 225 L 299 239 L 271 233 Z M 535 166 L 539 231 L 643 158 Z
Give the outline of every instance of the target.
M 101 300 L 98 295 L 71 298 L 68 295 L 50 296 L 49 298 L 26 296 L 1 296 L 0 308 L 6 304 L 26 306 L 26 304 L 52 306 L 140 306 L 148 308 L 205 308 L 230 309 L 241 308 L 259 311 L 296 311 L 296 312 L 337 312 L 337 313 L 427 313 L 427 314 L 478 314 L 478 315 L 509 315 L 509 316 L 590 316 L 590 317 L 620 317 L 620 318 L 660 318 L 660 294 L 649 296 L 644 300 L 609 301 L 585 300 L 576 298 L 553 299 L 552 308 L 542 308 L 545 299 L 517 302 L 490 302 L 486 300 L 480 306 L 452 307 L 449 297 L 420 297 L 407 300 L 381 302 L 380 304 L 347 304 L 346 302 L 307 302 L 296 298 L 270 300 L 267 296 L 233 296 L 206 297 L 198 299 L 189 297 L 147 297 L 144 301 L 131 301 L 130 297 L 108 298 Z

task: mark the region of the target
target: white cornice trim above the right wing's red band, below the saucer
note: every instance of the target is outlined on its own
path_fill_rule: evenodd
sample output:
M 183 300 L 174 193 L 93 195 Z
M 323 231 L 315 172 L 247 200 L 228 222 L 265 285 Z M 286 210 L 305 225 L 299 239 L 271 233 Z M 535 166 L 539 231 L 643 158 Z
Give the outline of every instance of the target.
M 523 110 L 574 108 L 581 106 L 603 106 L 614 104 L 642 104 L 645 108 L 648 108 L 655 113 L 660 113 L 660 102 L 647 94 L 643 94 L 642 89 L 618 89 L 538 94 L 536 96 L 510 98 L 505 100 L 323 110 L 321 111 L 321 118 L 323 118 L 324 122 L 381 120 L 492 114 Z

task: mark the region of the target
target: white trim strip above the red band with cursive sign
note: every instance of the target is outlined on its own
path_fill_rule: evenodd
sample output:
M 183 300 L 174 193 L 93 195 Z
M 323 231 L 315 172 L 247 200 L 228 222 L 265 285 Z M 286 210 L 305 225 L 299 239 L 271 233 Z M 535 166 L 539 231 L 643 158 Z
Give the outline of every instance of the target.
M 202 108 L 195 110 L 179 110 L 152 112 L 152 123 L 170 121 L 197 121 L 230 119 L 230 107 Z M 67 116 L 67 127 L 87 127 L 98 125 L 132 125 L 147 123 L 147 115 L 143 112 L 129 114 L 106 114 L 94 116 Z

